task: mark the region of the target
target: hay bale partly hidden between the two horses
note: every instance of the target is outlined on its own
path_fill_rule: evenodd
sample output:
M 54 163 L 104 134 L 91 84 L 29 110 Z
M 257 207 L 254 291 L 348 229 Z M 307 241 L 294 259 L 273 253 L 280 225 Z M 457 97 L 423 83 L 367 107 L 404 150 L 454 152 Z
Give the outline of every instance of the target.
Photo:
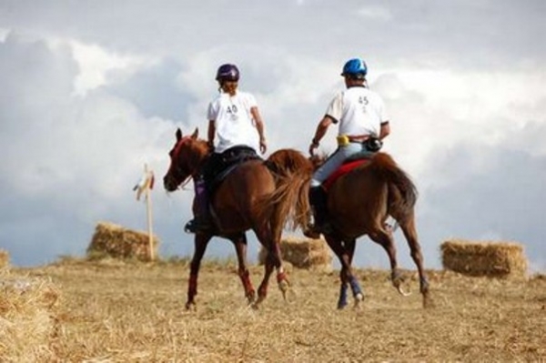
M 324 239 L 285 237 L 280 240 L 280 255 L 294 267 L 331 270 L 332 255 Z M 258 264 L 265 263 L 267 251 L 262 247 Z

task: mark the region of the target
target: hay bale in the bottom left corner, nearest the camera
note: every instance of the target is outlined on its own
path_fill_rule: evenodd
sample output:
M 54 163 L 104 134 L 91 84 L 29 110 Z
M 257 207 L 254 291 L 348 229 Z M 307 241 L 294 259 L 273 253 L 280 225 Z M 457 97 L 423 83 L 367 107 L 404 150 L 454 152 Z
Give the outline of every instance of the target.
M 57 361 L 59 292 L 45 278 L 0 270 L 0 361 Z

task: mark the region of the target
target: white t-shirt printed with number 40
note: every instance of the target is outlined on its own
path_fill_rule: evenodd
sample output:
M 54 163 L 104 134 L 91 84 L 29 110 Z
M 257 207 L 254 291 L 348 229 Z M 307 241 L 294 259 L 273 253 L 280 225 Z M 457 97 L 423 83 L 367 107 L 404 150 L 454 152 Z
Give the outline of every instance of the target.
M 218 136 L 217 153 L 233 146 L 249 146 L 258 152 L 258 130 L 250 113 L 254 106 L 258 106 L 256 98 L 239 91 L 235 96 L 221 93 L 208 105 L 207 118 L 214 121 Z

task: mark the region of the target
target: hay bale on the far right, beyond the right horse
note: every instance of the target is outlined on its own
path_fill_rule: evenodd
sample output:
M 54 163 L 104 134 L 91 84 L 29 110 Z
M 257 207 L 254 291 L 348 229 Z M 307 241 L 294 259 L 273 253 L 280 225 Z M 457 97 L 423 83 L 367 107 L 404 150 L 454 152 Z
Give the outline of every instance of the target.
M 440 249 L 443 267 L 461 274 L 525 277 L 527 273 L 527 259 L 521 244 L 457 239 L 445 241 Z

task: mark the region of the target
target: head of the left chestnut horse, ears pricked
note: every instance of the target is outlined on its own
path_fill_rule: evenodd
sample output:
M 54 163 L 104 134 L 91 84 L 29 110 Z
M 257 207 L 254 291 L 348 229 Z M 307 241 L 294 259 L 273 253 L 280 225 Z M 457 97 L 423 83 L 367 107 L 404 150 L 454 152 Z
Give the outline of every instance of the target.
M 210 152 L 205 140 L 198 138 L 199 131 L 183 136 L 180 128 L 177 129 L 177 141 L 169 151 L 170 166 L 163 176 L 163 186 L 168 192 L 177 190 L 190 176 L 197 174 L 199 165 Z

